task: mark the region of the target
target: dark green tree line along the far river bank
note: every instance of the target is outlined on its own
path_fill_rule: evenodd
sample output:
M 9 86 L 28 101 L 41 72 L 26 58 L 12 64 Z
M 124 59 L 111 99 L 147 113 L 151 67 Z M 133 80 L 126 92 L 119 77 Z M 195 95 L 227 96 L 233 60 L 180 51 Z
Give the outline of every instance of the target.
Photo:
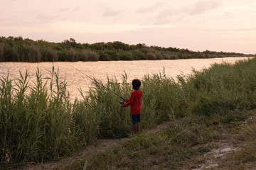
M 0 37 L 0 62 L 78 62 L 111 60 L 177 60 L 214 57 L 249 57 L 236 52 L 194 52 L 176 47 L 128 45 L 123 42 L 78 43 Z

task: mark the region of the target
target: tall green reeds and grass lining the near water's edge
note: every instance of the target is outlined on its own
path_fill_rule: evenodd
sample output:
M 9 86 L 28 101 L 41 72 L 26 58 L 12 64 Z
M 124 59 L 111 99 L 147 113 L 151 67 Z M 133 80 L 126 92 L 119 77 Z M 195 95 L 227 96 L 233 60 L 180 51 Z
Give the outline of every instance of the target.
M 108 78 L 92 81 L 93 88 L 83 98 L 70 101 L 68 83 L 53 67 L 51 77 L 38 70 L 36 81 L 28 85 L 29 72 L 20 79 L 0 79 L 1 162 L 42 162 L 58 159 L 99 137 L 125 137 L 132 132 L 129 108 L 119 105 L 119 97 L 129 98 L 132 84 L 127 74 L 122 82 Z M 229 114 L 230 110 L 256 107 L 256 62 L 234 65 L 213 64 L 202 72 L 193 71 L 178 81 L 164 73 L 142 79 L 142 129 L 188 115 Z M 107 89 L 105 88 L 107 87 Z M 242 112 L 238 112 L 242 113 Z

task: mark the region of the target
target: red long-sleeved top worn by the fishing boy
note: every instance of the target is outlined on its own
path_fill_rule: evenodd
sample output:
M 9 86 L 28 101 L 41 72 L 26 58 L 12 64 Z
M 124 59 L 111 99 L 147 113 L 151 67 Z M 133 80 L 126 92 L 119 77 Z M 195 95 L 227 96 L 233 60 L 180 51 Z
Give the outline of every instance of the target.
M 122 107 L 131 106 L 132 115 L 138 115 L 142 111 L 142 91 L 134 90 L 132 91 L 131 97 L 124 103 Z

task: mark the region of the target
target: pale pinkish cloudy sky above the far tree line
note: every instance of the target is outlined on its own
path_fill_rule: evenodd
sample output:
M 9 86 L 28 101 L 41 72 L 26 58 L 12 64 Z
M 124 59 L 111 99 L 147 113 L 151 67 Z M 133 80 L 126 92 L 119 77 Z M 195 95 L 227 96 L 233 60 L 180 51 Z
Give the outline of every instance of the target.
M 0 0 L 0 36 L 256 54 L 255 0 Z

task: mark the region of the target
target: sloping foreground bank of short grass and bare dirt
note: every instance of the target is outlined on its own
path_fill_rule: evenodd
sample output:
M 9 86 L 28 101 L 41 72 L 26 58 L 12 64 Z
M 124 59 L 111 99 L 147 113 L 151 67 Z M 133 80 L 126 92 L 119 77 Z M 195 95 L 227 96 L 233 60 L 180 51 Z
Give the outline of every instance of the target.
M 255 110 L 179 118 L 22 169 L 255 169 L 255 120 Z

